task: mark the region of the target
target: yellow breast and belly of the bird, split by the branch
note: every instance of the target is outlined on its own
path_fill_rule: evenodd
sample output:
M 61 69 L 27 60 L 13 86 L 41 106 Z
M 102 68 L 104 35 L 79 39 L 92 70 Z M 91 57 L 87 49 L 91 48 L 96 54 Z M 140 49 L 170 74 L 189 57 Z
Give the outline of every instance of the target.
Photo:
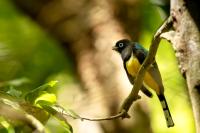
M 127 71 L 133 77 L 135 77 L 137 75 L 137 73 L 140 69 L 140 66 L 141 66 L 140 62 L 133 55 L 126 62 Z M 155 90 L 157 93 L 160 92 L 158 84 L 156 83 L 156 81 L 154 80 L 152 75 L 150 75 L 150 73 L 148 71 L 145 73 L 143 83 L 145 86 L 150 87 L 151 89 Z

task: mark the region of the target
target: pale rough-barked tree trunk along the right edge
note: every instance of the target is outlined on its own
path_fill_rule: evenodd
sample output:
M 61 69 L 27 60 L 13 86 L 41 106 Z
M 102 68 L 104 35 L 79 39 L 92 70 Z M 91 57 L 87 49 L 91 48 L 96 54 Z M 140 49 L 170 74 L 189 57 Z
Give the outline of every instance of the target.
M 163 37 L 175 49 L 179 67 L 186 78 L 196 132 L 200 133 L 200 12 L 199 2 L 171 0 L 174 29 Z

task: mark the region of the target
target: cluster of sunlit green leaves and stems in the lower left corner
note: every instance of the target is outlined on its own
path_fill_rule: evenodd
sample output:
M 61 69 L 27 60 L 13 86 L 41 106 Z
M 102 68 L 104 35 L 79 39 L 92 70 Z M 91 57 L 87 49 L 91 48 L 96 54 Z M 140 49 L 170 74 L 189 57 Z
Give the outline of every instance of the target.
M 41 132 L 41 130 L 44 130 L 44 127 L 38 126 L 40 122 L 45 124 L 50 116 L 54 116 L 62 124 L 66 133 L 72 133 L 73 129 L 68 123 L 67 117 L 72 117 L 74 119 L 80 119 L 80 117 L 74 111 L 65 110 L 63 107 L 56 104 L 56 95 L 48 91 L 48 89 L 53 88 L 56 83 L 57 81 L 50 81 L 49 83 L 39 86 L 27 93 L 25 99 L 23 97 L 16 97 L 14 93 L 8 94 L 1 91 L 0 125 L 2 127 L 0 130 L 5 130 L 5 132 L 9 133 L 13 132 L 13 130 L 19 130 L 19 132 L 31 131 L 30 129 L 19 128 L 21 126 L 21 124 L 18 123 L 19 121 L 20 123 L 24 123 L 24 126 L 31 125 L 32 128 L 36 127 L 36 129 Z M 5 114 L 7 110 L 12 111 Z M 32 115 L 34 117 L 30 119 L 30 116 L 27 117 L 27 115 Z

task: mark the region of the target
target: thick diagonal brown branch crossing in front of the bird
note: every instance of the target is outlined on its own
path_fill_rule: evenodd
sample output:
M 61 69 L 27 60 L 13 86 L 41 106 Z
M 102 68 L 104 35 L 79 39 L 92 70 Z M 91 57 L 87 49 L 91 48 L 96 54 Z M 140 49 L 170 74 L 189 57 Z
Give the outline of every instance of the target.
M 124 103 L 121 106 L 120 112 L 126 112 L 128 115 L 128 110 L 133 104 L 135 100 L 137 100 L 138 92 L 140 88 L 142 87 L 143 78 L 146 70 L 148 67 L 154 62 L 155 55 L 158 49 L 158 45 L 160 43 L 160 35 L 166 31 L 168 31 L 172 27 L 172 17 L 169 16 L 169 18 L 160 26 L 160 28 L 157 30 L 156 34 L 154 35 L 154 38 L 152 39 L 151 46 L 149 49 L 149 53 L 143 62 L 142 66 L 140 67 L 139 72 L 137 73 L 135 84 L 133 86 L 133 89 L 129 96 L 124 100 Z M 124 116 L 126 117 L 126 116 Z

